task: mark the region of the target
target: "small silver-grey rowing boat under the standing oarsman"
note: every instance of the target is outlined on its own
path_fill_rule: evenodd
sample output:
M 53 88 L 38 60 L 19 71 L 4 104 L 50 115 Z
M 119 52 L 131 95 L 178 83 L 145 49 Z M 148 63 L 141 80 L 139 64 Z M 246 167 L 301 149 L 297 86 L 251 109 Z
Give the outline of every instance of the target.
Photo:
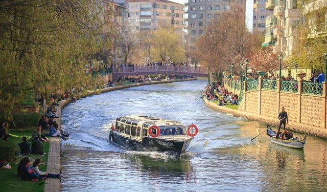
M 305 147 L 306 140 L 307 140 L 307 135 L 305 135 L 303 139 L 298 137 L 293 137 L 289 140 L 277 139 L 276 138 L 277 133 L 273 131 L 271 128 L 267 129 L 267 135 L 270 136 L 271 143 L 290 147 L 290 148 L 303 148 Z

